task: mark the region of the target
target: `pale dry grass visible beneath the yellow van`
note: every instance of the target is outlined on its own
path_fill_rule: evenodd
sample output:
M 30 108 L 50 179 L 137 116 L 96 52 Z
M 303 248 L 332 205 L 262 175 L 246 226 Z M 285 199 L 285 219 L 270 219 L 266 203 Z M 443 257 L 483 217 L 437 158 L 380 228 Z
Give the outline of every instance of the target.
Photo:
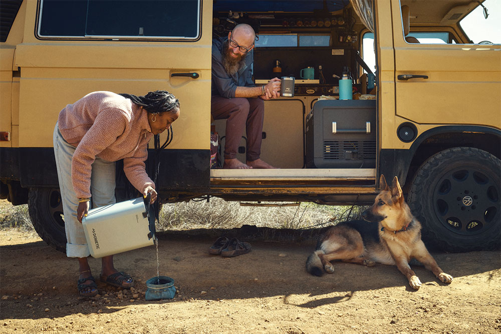
M 357 219 L 363 209 L 358 206 L 328 206 L 314 203 L 285 207 L 240 206 L 239 202 L 227 202 L 213 197 L 208 203 L 190 201 L 163 205 L 157 230 L 231 229 L 245 224 L 257 227 L 306 229 Z M 0 229 L 9 228 L 36 233 L 30 220 L 28 205 L 13 206 L 7 200 L 0 200 Z

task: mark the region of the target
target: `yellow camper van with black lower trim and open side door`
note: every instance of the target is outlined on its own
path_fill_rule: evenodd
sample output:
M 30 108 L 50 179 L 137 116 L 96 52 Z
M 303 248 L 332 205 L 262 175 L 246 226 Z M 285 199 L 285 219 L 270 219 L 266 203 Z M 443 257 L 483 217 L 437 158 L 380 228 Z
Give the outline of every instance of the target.
M 181 103 L 156 152 L 164 203 L 192 198 L 366 204 L 398 176 L 425 240 L 499 247 L 501 7 L 495 0 L 0 2 L 1 197 L 28 203 L 41 237 L 66 240 L 52 130 L 93 91 L 172 92 Z M 211 41 L 258 33 L 253 80 L 295 78 L 265 101 L 263 160 L 210 168 Z M 312 67 L 314 76 L 301 78 Z M 349 70 L 352 100 L 339 100 Z M 211 129 L 212 128 L 212 129 Z M 166 134 L 159 142 L 167 140 Z M 240 153 L 244 156 L 245 138 Z M 159 146 L 159 145 L 157 145 Z M 118 187 L 117 192 L 120 192 Z

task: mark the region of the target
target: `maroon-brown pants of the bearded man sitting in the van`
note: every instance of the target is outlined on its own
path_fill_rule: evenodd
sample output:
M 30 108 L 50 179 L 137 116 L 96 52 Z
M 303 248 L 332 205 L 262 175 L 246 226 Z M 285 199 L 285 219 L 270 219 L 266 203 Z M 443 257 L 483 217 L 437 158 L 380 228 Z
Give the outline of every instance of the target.
M 265 103 L 260 98 L 212 96 L 210 113 L 215 120 L 227 119 L 224 159 L 235 159 L 243 129 L 247 134 L 247 161 L 259 159 L 263 136 Z

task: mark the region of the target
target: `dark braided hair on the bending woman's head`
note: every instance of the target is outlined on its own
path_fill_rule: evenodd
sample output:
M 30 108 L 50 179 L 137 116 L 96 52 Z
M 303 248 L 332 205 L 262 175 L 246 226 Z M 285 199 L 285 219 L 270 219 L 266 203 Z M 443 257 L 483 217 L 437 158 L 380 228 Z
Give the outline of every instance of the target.
M 167 91 L 149 92 L 144 96 L 135 96 L 132 94 L 119 94 L 126 99 L 130 99 L 135 104 L 144 107 L 150 114 L 163 112 L 177 113 L 179 110 L 179 100 Z

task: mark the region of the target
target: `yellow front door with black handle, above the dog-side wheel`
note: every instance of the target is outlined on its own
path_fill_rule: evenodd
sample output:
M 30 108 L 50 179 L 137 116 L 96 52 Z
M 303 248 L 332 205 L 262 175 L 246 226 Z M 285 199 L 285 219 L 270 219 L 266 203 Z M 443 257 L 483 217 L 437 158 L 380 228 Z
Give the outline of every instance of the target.
M 417 15 L 413 14 L 412 5 L 409 3 L 411 18 Z M 419 5 L 419 2 L 414 5 Z M 392 1 L 391 6 L 396 115 L 419 124 L 469 124 L 499 128 L 499 45 L 406 42 L 401 2 Z M 424 8 L 420 7 L 421 21 L 426 15 L 422 13 Z M 433 9 L 429 7 L 427 10 Z

